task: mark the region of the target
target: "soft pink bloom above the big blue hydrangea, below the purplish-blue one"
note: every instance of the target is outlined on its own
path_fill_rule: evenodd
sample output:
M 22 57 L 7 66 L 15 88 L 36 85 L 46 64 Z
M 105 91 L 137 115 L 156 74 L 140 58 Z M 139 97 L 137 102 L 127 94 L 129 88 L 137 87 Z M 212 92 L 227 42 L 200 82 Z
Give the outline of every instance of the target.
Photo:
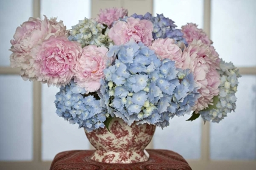
M 177 46 L 177 44 L 175 44 L 174 39 L 155 39 L 149 48 L 155 51 L 155 54 L 160 58 L 160 60 L 168 58 L 169 60 L 175 61 L 176 67 L 182 67 L 184 61 L 184 58 L 182 57 L 182 50 Z

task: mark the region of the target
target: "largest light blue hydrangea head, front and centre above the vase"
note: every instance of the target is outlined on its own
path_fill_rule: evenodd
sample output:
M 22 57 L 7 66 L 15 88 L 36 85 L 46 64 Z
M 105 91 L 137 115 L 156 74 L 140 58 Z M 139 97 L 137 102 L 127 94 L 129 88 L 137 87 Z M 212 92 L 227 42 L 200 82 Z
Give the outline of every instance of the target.
M 197 100 L 193 73 L 179 70 L 171 60 L 160 61 L 153 50 L 130 41 L 110 47 L 115 64 L 104 70 L 101 94 L 108 113 L 129 125 L 165 127 L 169 118 L 190 113 Z

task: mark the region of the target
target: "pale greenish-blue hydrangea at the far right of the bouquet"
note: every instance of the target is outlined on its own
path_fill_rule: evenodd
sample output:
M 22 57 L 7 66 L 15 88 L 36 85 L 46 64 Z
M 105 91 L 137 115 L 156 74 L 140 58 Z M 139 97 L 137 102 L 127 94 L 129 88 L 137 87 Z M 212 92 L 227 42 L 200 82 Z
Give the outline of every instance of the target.
M 221 60 L 220 70 L 221 84 L 219 85 L 219 95 L 216 100 L 215 108 L 205 109 L 199 112 L 204 121 L 219 123 L 227 113 L 236 108 L 235 93 L 238 86 L 238 78 L 241 77 L 239 70 L 230 62 L 225 63 Z

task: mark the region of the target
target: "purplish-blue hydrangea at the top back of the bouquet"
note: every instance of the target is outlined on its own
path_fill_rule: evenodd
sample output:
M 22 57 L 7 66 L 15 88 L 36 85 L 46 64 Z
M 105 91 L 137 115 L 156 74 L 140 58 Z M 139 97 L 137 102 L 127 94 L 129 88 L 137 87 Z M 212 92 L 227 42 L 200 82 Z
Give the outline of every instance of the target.
M 147 19 L 151 21 L 154 25 L 154 30 L 152 32 L 153 38 L 172 38 L 177 42 L 183 42 L 186 46 L 188 45 L 185 38 L 183 38 L 183 33 L 180 29 L 176 29 L 174 21 L 163 16 L 163 14 L 157 14 L 157 16 L 152 16 L 151 13 L 146 13 L 143 15 L 137 15 L 134 13 L 133 18 Z

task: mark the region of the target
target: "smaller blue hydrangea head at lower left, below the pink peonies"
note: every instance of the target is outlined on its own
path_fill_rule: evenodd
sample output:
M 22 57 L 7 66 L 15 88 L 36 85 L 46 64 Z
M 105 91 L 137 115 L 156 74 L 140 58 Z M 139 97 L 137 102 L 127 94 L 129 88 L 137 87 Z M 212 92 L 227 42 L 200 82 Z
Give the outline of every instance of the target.
M 70 84 L 60 87 L 60 92 L 54 101 L 57 108 L 56 113 L 69 123 L 79 124 L 85 127 L 88 132 L 99 127 L 105 127 L 104 121 L 108 116 L 106 110 L 101 107 L 100 100 L 96 100 L 93 95 L 85 95 L 85 89 L 71 81 Z

